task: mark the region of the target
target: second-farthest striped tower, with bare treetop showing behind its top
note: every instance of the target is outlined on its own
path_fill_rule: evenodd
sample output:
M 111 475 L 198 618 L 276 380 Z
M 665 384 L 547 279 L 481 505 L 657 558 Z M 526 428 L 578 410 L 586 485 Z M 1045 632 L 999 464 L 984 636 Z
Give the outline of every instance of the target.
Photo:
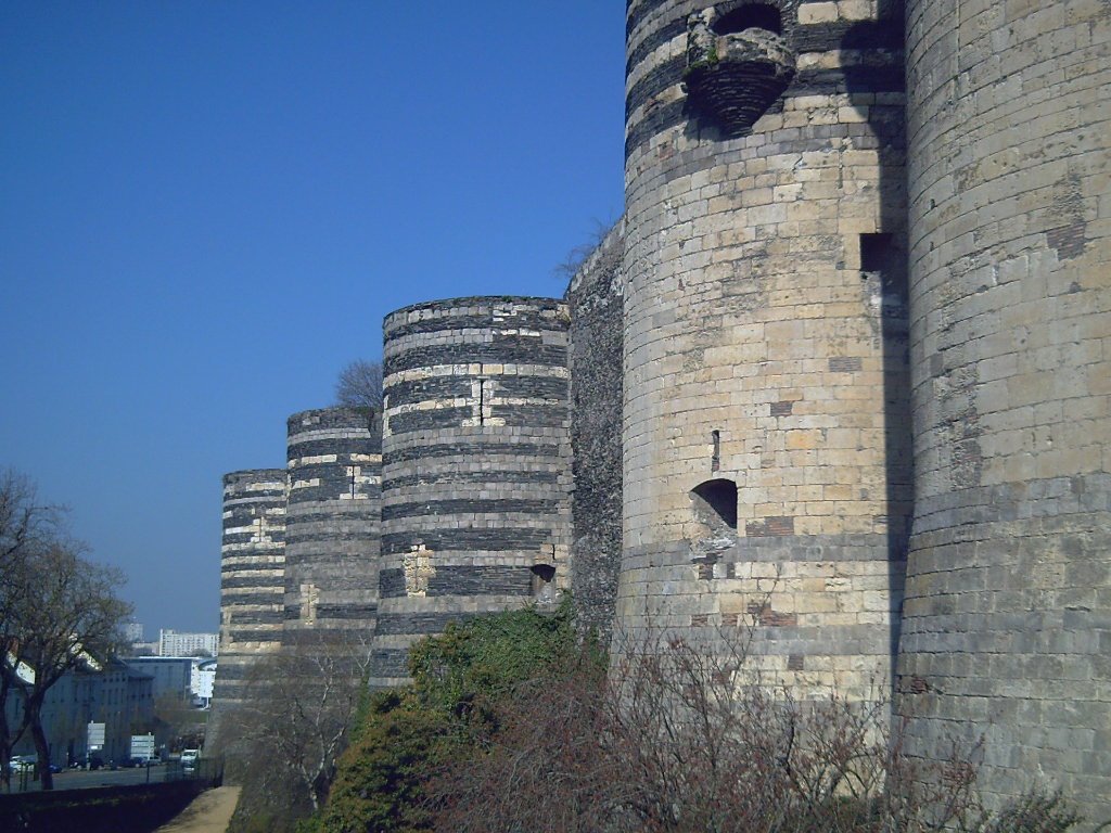
M 326 408 L 288 420 L 286 641 L 366 643 L 378 611 L 380 419 Z

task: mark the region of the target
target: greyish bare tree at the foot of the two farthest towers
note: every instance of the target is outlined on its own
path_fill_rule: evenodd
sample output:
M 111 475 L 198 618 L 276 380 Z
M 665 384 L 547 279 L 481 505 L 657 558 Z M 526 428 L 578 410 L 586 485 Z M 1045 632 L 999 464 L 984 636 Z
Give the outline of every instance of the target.
M 357 638 L 287 645 L 252 669 L 243 704 L 229 713 L 229 754 L 256 762 L 247 781 L 292 775 L 319 810 L 347 746 L 369 651 Z M 247 785 L 244 784 L 244 790 Z

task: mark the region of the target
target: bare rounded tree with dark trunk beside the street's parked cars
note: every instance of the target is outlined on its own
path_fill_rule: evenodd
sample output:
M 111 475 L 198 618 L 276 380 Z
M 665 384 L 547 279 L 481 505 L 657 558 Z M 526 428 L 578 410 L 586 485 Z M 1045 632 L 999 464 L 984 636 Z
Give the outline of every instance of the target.
M 21 598 L 8 611 L 8 661 L 29 670 L 20 685 L 23 715 L 19 732 L 30 731 L 42 763 L 42 789 L 53 787 L 47 762 L 50 746 L 42 726 L 47 692 L 68 671 L 99 664 L 121 643 L 131 605 L 116 596 L 122 572 L 82 558 L 82 546 L 54 540 L 26 553 Z

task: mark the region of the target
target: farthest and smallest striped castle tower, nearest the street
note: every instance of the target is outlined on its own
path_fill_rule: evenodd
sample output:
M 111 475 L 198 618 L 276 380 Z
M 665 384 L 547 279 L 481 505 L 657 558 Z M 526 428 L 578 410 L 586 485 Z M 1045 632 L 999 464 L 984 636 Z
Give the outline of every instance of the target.
M 281 645 L 284 546 L 286 470 L 224 474 L 213 727 L 242 702 L 251 664 Z M 214 735 L 210 730 L 210 746 Z

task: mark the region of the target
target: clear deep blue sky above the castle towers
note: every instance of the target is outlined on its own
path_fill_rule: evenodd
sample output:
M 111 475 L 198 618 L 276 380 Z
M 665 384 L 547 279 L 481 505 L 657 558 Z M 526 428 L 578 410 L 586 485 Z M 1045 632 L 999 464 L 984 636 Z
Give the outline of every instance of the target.
M 418 301 L 559 295 L 622 203 L 619 0 L 0 3 L 0 466 L 148 636 L 214 631 L 220 478 Z

